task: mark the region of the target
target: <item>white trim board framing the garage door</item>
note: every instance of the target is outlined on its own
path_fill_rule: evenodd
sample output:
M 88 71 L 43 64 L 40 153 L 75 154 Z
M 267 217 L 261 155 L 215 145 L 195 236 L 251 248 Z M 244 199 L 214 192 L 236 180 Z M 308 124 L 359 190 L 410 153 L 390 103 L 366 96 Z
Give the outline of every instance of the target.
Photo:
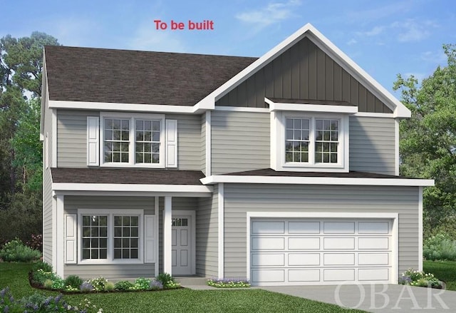
M 251 236 L 251 222 L 252 218 L 312 218 L 312 219 L 375 219 L 375 220 L 393 220 L 391 235 L 393 237 L 391 252 L 393 254 L 390 273 L 390 283 L 397 284 L 398 280 L 398 267 L 399 267 L 399 258 L 398 258 L 398 247 L 399 247 L 399 232 L 398 232 L 398 213 L 381 213 L 381 212 L 247 212 L 247 280 L 250 280 L 250 236 Z

